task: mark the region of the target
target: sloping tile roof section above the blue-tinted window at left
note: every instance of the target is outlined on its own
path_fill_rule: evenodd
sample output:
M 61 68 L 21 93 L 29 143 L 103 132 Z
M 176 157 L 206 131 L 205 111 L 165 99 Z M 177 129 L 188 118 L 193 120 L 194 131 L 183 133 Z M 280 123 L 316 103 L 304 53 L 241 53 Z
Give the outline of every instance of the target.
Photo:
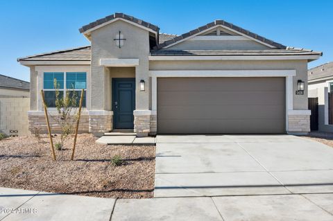
M 70 48 L 61 51 L 52 51 L 38 55 L 18 58 L 17 61 L 90 61 L 92 57 L 91 46 Z

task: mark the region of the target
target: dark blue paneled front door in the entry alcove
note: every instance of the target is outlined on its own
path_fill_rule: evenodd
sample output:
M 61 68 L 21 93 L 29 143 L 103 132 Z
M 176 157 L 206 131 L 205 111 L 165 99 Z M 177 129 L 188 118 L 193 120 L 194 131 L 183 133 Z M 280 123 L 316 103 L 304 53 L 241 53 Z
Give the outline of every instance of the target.
M 135 78 L 112 78 L 114 129 L 134 127 Z

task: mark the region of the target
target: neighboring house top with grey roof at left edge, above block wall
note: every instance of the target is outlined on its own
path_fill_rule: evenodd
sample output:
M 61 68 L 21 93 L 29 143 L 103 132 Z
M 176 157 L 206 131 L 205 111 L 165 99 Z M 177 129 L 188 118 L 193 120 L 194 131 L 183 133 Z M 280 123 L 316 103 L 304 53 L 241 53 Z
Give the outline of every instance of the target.
M 0 74 L 0 98 L 28 98 L 30 83 Z

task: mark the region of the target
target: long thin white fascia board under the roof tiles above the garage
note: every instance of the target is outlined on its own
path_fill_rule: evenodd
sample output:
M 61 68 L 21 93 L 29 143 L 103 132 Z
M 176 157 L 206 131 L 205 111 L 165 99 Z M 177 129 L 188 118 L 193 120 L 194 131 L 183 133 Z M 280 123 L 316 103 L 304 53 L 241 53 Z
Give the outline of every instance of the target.
M 320 55 L 281 56 L 148 56 L 149 60 L 317 60 Z

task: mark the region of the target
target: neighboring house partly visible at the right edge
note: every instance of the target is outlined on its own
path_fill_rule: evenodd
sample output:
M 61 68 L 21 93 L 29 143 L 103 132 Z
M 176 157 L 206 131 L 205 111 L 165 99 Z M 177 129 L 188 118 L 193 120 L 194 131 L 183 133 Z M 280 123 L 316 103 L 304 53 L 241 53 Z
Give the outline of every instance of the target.
M 309 69 L 309 98 L 318 98 L 318 130 L 333 132 L 333 62 Z

